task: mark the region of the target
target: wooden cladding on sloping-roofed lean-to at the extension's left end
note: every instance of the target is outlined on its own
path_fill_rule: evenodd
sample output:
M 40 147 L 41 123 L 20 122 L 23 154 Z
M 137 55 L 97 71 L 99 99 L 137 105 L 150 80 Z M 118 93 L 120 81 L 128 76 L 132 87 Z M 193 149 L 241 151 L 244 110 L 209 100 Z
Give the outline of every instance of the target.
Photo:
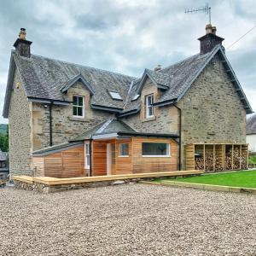
M 36 176 L 47 177 L 82 177 L 84 170 L 84 146 L 48 154 L 44 157 L 33 157 Z

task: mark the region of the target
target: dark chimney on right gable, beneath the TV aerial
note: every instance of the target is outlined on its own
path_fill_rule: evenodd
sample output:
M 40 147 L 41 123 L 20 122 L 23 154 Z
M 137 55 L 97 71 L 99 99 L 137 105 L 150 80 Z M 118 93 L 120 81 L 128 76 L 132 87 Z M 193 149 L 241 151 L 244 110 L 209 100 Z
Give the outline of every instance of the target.
M 211 51 L 216 45 L 222 45 L 222 41 L 224 38 L 220 38 L 216 35 L 216 26 L 212 26 L 211 24 L 207 24 L 206 26 L 206 34 L 198 38 L 200 41 L 200 54 L 204 55 L 207 52 Z

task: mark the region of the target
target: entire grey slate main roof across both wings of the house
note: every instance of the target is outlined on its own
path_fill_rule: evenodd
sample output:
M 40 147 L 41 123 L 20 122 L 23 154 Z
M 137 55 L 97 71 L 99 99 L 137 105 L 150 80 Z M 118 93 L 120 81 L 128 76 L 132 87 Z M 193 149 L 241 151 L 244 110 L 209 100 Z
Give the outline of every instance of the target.
M 141 78 L 65 61 L 57 61 L 38 55 L 31 55 L 30 58 L 26 58 L 17 55 L 15 51 L 12 51 L 12 57 L 20 71 L 21 80 L 28 97 L 67 102 L 65 91 L 73 81 L 80 79 L 91 92 L 90 104 L 93 108 L 98 108 L 99 106 L 101 108 L 113 108 L 113 111 L 125 115 L 125 113 L 138 112 L 140 110 L 140 97 L 135 101 L 132 99 L 140 93 L 147 76 L 153 80 L 156 86 L 165 90 L 158 101 L 154 102 L 155 105 L 178 101 L 217 53 L 221 55 L 226 69 L 230 71 L 230 78 L 236 84 L 236 89 L 238 89 L 237 91 L 247 109 L 247 113 L 253 113 L 247 97 L 236 79 L 236 74 L 230 67 L 230 63 L 227 61 L 220 45 L 217 45 L 207 54 L 193 55 L 157 72 L 145 69 Z M 119 92 L 123 101 L 113 100 L 108 90 Z M 11 85 L 7 87 L 3 108 L 4 117 L 8 117 L 9 113 L 10 92 Z

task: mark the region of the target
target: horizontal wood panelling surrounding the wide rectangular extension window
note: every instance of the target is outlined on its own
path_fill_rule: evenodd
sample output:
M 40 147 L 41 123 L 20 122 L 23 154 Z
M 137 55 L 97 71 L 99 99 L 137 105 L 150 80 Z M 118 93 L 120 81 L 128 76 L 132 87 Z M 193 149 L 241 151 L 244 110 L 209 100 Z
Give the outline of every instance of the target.
M 171 156 L 143 157 L 142 143 L 170 143 Z M 132 138 L 133 173 L 177 171 L 177 143 L 172 139 Z

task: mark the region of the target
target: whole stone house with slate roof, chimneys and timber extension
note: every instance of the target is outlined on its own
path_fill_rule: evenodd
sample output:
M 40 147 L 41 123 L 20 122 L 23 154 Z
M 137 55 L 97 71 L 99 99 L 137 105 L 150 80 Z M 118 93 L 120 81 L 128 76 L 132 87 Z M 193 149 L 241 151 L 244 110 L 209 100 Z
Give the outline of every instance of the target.
M 198 54 L 135 78 L 32 55 L 22 28 L 3 108 L 10 173 L 77 177 L 193 169 L 188 145 L 212 144 L 214 155 L 215 145 L 243 145 L 252 108 L 223 40 L 207 25 Z

